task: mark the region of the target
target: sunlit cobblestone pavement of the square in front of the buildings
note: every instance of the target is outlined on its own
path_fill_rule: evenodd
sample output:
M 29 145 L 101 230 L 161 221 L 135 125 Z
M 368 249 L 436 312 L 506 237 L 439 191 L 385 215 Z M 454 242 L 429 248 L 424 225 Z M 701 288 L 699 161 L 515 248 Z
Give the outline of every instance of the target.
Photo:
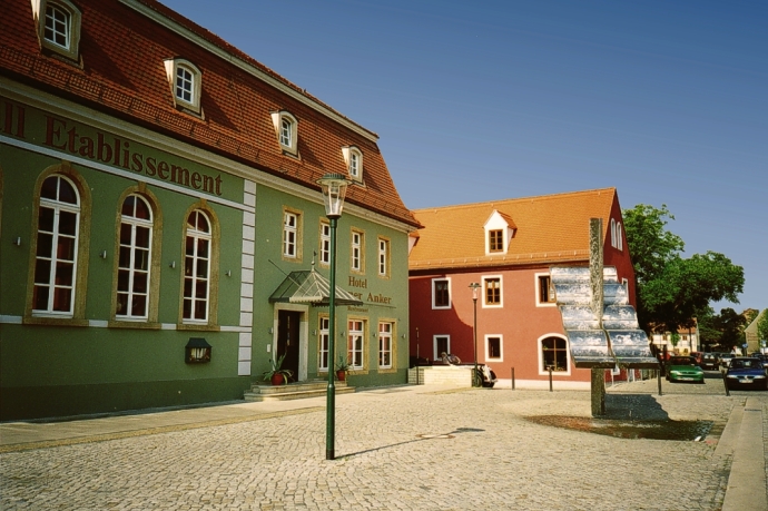
M 656 384 L 611 387 L 609 415 L 699 419 L 722 428 L 732 406 L 746 399 L 727 397 L 720 389 L 700 392 L 713 391 L 709 381 L 660 396 Z M 337 396 L 334 461 L 325 460 L 323 410 L 9 452 L 0 456 L 0 509 L 718 510 L 722 504 L 731 458 L 715 455 L 717 439 L 628 440 L 525 420 L 589 416 L 590 393 L 583 391 L 412 389 Z M 767 400 L 759 395 L 766 416 Z M 766 438 L 768 424 L 764 428 Z

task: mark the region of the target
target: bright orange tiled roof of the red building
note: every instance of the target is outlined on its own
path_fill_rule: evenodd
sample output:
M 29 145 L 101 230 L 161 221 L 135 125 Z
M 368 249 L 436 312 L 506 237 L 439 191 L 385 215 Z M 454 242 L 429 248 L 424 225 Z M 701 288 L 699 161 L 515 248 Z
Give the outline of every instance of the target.
M 589 261 L 589 219 L 608 234 L 616 188 L 414 209 L 424 226 L 410 269 Z M 493 210 L 515 228 L 504 255 L 485 255 L 483 225 Z

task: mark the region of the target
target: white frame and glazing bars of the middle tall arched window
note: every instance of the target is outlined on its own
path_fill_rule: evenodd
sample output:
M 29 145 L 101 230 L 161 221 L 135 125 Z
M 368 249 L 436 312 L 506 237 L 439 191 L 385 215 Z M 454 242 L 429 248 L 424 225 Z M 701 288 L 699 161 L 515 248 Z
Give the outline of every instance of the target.
M 149 212 L 149 219 L 146 220 L 144 218 L 138 218 L 135 215 L 125 215 L 122 213 L 122 207 L 125 203 L 129 199 L 134 198 L 134 210 L 136 210 L 137 202 L 144 203 L 145 207 Z M 150 204 L 140 195 L 138 194 L 131 194 L 128 197 L 125 198 L 122 204 L 120 205 L 120 233 L 118 234 L 118 250 L 121 254 L 124 249 L 128 250 L 128 267 L 120 267 L 120 261 L 122 261 L 122 257 L 118 257 L 118 268 L 117 268 L 117 278 L 118 278 L 118 284 L 116 286 L 117 288 L 117 302 L 120 303 L 120 295 L 125 295 L 126 298 L 126 304 L 127 308 L 126 311 L 120 314 L 117 311 L 115 312 L 115 317 L 121 321 L 146 321 L 149 317 L 149 294 L 150 294 L 150 279 L 151 279 L 151 267 L 152 267 L 152 243 L 154 243 L 154 226 L 155 226 L 155 212 L 152 212 L 152 208 Z M 122 226 L 126 225 L 128 228 L 130 228 L 130 239 L 127 245 L 122 243 Z M 137 230 L 139 228 L 145 228 L 148 230 L 148 239 L 147 239 L 147 247 L 138 247 L 136 245 L 136 236 L 137 236 Z M 136 256 L 139 252 L 146 252 L 147 255 L 147 261 L 146 261 L 146 269 L 137 268 L 137 261 Z M 209 257 L 210 258 L 210 257 Z M 120 291 L 120 275 L 126 274 L 128 275 L 128 289 Z M 136 278 L 140 275 L 145 274 L 146 278 L 146 292 L 145 293 L 139 293 L 136 292 L 134 288 L 134 285 L 136 283 Z M 144 314 L 134 314 L 134 298 L 136 296 L 144 296 Z

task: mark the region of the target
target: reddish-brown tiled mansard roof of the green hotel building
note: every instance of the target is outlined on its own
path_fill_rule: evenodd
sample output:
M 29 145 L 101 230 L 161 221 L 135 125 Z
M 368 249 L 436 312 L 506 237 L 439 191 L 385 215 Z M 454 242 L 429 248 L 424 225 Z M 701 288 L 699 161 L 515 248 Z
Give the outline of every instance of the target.
M 329 115 L 118 0 L 77 2 L 82 14 L 82 68 L 40 51 L 29 1 L 6 2 L 0 17 L 0 75 L 313 189 L 319 189 L 315 181 L 324 174 L 346 174 L 342 147 L 355 145 L 364 155 L 365 186 L 351 187 L 347 200 L 406 225 L 419 226 L 395 188 L 373 131 L 341 116 L 161 3 L 139 1 Z M 205 119 L 174 107 L 164 67 L 164 60 L 174 57 L 185 58 L 200 69 Z M 269 114 L 283 109 L 298 119 L 301 159 L 284 156 L 279 148 Z M 334 119 L 334 115 L 341 121 Z M 351 126 L 345 126 L 344 121 Z

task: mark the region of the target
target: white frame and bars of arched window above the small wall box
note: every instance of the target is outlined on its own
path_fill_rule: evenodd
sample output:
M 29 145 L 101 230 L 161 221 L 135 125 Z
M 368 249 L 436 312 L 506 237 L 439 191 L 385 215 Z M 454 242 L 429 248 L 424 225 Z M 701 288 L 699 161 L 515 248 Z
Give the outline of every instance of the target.
M 194 227 L 189 225 L 189 216 L 191 215 L 203 215 L 205 220 L 208 223 L 208 232 L 199 230 L 197 228 L 197 225 Z M 196 223 L 197 224 L 197 223 Z M 214 229 L 214 223 L 210 218 L 210 216 L 204 212 L 203 209 L 195 209 L 189 213 L 187 216 L 187 223 L 185 225 L 186 230 L 185 230 L 185 247 L 186 247 L 186 240 L 188 238 L 193 238 L 193 253 L 187 254 L 186 248 L 184 253 L 184 286 L 185 286 L 185 292 L 183 296 L 183 307 L 181 307 L 181 321 L 183 323 L 188 323 L 188 324 L 208 324 L 209 317 L 210 317 L 210 266 L 213 263 L 213 255 L 214 255 L 214 237 L 213 237 L 213 229 Z M 199 242 L 208 242 L 208 255 L 207 257 L 200 256 L 198 254 L 198 247 L 199 247 Z M 190 258 L 191 261 L 188 261 Z M 200 264 L 200 262 L 207 262 L 206 265 L 206 272 L 205 275 L 197 275 L 197 269 Z M 190 274 L 187 275 L 187 265 L 191 263 L 191 268 L 190 268 Z M 190 282 L 190 292 L 191 295 L 187 296 L 186 292 L 186 284 L 187 282 Z M 200 282 L 205 282 L 205 297 L 198 297 L 196 296 L 196 289 L 197 285 Z M 204 301 L 205 302 L 205 318 L 201 317 L 195 317 L 195 311 L 196 311 L 196 305 L 198 302 Z M 189 307 L 189 317 L 187 317 L 187 313 L 185 311 L 186 308 L 186 303 L 190 303 Z

